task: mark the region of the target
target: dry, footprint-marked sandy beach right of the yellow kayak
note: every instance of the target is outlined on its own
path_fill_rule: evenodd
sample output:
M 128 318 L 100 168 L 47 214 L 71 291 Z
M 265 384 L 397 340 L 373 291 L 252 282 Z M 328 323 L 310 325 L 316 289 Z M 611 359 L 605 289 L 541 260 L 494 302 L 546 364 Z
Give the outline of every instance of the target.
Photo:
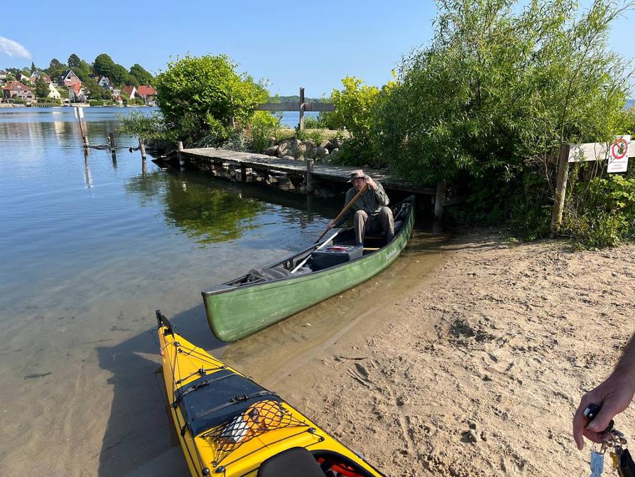
M 587 476 L 571 418 L 634 331 L 635 246 L 502 237 L 451 240 L 379 321 L 267 384 L 388 476 Z M 635 439 L 635 406 L 616 427 Z

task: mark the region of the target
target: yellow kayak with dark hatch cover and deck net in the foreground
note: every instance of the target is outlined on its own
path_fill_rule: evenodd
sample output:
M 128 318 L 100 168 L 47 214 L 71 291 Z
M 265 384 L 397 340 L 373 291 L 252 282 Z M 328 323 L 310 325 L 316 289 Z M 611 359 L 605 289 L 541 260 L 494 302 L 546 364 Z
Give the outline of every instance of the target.
M 170 412 L 190 473 L 384 477 L 288 402 L 192 345 L 156 312 Z

